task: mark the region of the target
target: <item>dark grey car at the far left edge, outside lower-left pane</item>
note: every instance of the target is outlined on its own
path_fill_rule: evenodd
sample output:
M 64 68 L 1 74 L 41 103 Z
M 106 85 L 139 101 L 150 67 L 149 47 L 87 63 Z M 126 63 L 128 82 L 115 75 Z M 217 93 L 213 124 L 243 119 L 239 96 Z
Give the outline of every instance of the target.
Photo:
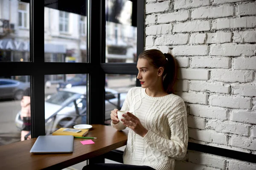
M 0 79 L 0 99 L 21 100 L 24 90 L 29 87 L 29 83 L 13 79 Z

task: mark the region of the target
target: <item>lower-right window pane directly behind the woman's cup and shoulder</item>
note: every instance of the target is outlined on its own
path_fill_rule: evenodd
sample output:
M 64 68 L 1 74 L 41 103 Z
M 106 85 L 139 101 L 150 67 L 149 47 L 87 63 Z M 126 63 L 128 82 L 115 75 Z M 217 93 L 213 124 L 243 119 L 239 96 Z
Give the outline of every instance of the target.
M 120 110 L 130 88 L 136 87 L 136 75 L 106 74 L 105 81 L 105 124 L 110 125 L 111 111 Z

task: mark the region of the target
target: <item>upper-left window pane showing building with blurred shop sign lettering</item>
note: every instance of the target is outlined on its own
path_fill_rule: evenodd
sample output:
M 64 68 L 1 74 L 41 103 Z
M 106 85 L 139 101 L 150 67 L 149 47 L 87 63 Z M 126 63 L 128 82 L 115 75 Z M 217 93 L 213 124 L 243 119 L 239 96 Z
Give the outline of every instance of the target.
M 29 3 L 1 2 L 0 62 L 29 62 Z

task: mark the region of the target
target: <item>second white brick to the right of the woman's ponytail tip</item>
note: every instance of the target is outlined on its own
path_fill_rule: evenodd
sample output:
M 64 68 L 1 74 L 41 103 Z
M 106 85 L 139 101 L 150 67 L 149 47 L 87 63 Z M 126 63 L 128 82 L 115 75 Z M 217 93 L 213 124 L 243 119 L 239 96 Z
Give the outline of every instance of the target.
M 230 93 L 230 85 L 227 85 L 221 82 L 205 82 L 205 81 L 191 80 L 190 90 L 200 91 L 200 92 L 228 94 Z

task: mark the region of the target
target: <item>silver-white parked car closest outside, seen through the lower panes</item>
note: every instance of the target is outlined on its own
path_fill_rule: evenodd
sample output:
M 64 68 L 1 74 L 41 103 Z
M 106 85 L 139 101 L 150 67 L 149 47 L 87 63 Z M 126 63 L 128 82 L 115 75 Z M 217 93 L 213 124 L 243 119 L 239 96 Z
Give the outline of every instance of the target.
M 105 120 L 109 120 L 111 110 L 122 107 L 127 92 L 119 94 L 120 106 L 118 106 L 117 91 L 105 88 L 105 94 Z M 63 125 L 80 124 L 82 119 L 86 120 L 86 86 L 64 88 L 47 98 L 45 101 L 46 134 L 54 132 Z M 76 101 L 78 112 L 74 101 Z M 22 128 L 20 111 L 16 115 L 15 124 L 19 129 Z

